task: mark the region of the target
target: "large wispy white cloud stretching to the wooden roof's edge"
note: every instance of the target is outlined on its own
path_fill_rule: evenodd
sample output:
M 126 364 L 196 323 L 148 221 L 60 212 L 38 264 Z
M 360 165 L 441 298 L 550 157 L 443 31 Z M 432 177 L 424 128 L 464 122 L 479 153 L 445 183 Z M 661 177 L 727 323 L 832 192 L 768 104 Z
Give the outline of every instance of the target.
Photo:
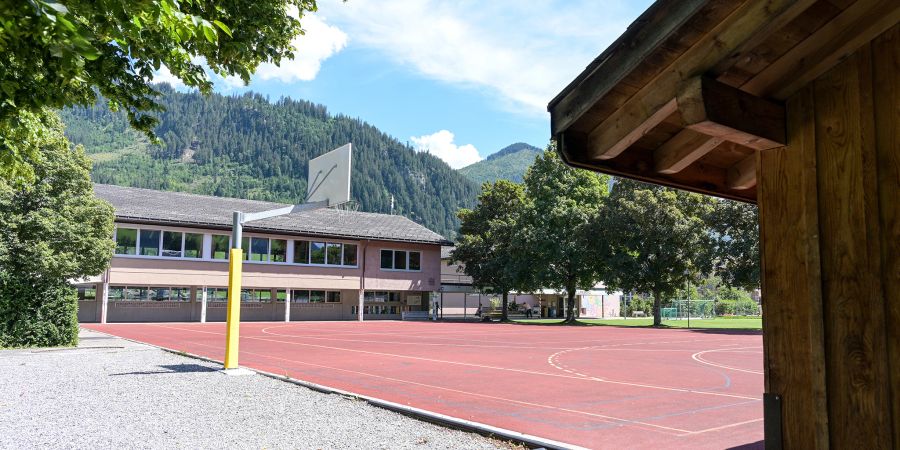
M 546 114 L 550 99 L 643 9 L 624 0 L 319 3 L 353 42 L 530 115 Z

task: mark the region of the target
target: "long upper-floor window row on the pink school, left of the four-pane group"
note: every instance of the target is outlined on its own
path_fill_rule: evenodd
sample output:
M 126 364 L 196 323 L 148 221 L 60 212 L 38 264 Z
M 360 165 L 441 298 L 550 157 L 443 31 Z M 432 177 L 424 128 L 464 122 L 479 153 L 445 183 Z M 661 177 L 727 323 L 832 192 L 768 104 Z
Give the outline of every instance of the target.
M 203 255 L 203 234 L 181 231 L 163 231 L 143 228 L 116 228 L 117 255 L 163 256 L 168 258 L 201 259 Z M 256 262 L 286 263 L 288 245 L 293 245 L 294 264 L 328 265 L 356 267 L 357 246 L 341 242 L 304 241 L 270 239 L 264 237 L 244 237 L 241 248 L 244 260 Z M 211 235 L 209 258 L 227 260 L 231 248 L 231 236 Z M 418 261 L 418 258 L 416 258 Z M 418 262 L 416 263 L 418 266 Z M 415 269 L 418 270 L 418 269 Z

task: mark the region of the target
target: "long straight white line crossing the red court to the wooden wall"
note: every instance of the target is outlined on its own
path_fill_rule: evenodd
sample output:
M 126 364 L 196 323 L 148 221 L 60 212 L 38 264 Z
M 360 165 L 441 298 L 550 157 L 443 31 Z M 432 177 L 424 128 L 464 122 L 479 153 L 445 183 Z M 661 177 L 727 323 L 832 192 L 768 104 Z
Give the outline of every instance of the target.
M 172 326 L 165 326 L 165 325 L 155 325 L 154 324 L 151 326 L 162 327 L 162 328 L 171 328 L 171 329 L 175 329 L 175 330 L 191 331 L 191 332 L 196 332 L 196 333 L 217 334 L 220 336 L 225 335 L 225 333 L 192 330 L 189 328 L 180 328 L 180 327 L 172 327 Z M 262 332 L 266 333 L 266 329 L 263 329 Z M 268 333 L 266 333 L 266 334 L 268 334 Z M 578 377 L 578 376 L 562 375 L 559 373 L 537 372 L 537 371 L 523 370 L 523 369 L 512 369 L 512 368 L 507 368 L 507 367 L 488 366 L 488 365 L 483 365 L 483 364 L 464 363 L 464 362 L 459 362 L 459 361 L 446 361 L 446 360 L 440 360 L 440 359 L 423 358 L 423 357 L 419 357 L 419 356 L 398 355 L 395 353 L 382 353 L 382 352 L 371 352 L 371 351 L 367 351 L 367 350 L 357 350 L 357 349 L 349 349 L 349 348 L 342 348 L 342 347 L 329 347 L 327 345 L 282 341 L 282 340 L 277 340 L 277 339 L 267 339 L 267 338 L 258 337 L 258 336 L 245 336 L 244 338 L 245 339 L 255 339 L 255 340 L 265 341 L 265 342 L 276 342 L 276 343 L 288 344 L 288 345 L 302 345 L 305 347 L 317 347 L 317 348 L 324 348 L 324 349 L 329 349 L 329 350 L 341 350 L 341 351 L 346 351 L 346 352 L 388 356 L 388 357 L 392 357 L 392 358 L 403 358 L 403 359 L 437 362 L 437 363 L 452 364 L 452 365 L 467 366 L 467 367 L 478 367 L 478 368 L 482 368 L 482 369 L 492 369 L 492 370 L 501 370 L 501 371 L 507 371 L 507 372 L 526 373 L 526 374 L 530 374 L 530 375 L 552 376 L 552 377 L 568 378 L 568 379 L 572 379 L 572 380 L 591 381 L 591 382 L 597 382 L 597 383 L 609 383 L 609 384 L 616 384 L 616 385 L 621 385 L 621 386 L 642 387 L 642 388 L 647 388 L 647 389 L 657 389 L 657 390 L 664 390 L 664 391 L 671 391 L 671 392 L 682 392 L 682 393 L 687 393 L 687 394 L 711 395 L 711 396 L 715 396 L 715 397 L 728 397 L 728 398 L 740 398 L 740 399 L 744 399 L 744 400 L 757 400 L 757 401 L 760 400 L 760 398 L 758 398 L 758 397 L 749 397 L 746 395 L 725 394 L 722 392 L 698 391 L 698 390 L 694 390 L 694 389 L 676 388 L 676 387 L 669 387 L 669 386 L 656 386 L 656 385 L 652 385 L 652 384 L 643 384 L 643 383 L 629 383 L 629 382 L 625 382 L 625 381 L 590 379 L 590 378 L 584 378 L 584 377 Z

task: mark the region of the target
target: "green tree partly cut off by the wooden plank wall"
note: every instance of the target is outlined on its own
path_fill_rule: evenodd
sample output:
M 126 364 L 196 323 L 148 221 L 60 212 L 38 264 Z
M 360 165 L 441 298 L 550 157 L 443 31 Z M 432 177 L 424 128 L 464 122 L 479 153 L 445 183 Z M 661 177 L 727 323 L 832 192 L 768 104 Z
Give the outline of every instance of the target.
M 756 206 L 714 200 L 706 216 L 711 233 L 710 255 L 714 270 L 728 286 L 759 287 L 759 215 Z

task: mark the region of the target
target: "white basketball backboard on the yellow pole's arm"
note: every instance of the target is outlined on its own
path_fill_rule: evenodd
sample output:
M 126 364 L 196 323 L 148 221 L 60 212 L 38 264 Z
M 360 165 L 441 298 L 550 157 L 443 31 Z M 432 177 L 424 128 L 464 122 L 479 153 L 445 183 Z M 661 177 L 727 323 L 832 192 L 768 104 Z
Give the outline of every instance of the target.
M 309 160 L 306 202 L 328 206 L 350 201 L 350 144 Z

